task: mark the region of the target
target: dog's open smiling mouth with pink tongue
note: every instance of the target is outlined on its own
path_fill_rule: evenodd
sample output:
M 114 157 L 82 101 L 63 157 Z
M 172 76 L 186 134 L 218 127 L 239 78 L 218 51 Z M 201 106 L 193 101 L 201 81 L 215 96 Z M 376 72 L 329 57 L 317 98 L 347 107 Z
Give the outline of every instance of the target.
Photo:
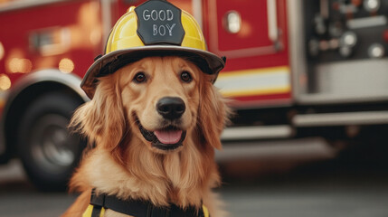
M 155 131 L 149 131 L 143 127 L 137 117 L 137 127 L 140 130 L 140 133 L 148 142 L 151 142 L 151 145 L 164 150 L 170 151 L 183 146 L 183 141 L 186 137 L 186 131 L 182 130 L 173 125 L 162 127 Z

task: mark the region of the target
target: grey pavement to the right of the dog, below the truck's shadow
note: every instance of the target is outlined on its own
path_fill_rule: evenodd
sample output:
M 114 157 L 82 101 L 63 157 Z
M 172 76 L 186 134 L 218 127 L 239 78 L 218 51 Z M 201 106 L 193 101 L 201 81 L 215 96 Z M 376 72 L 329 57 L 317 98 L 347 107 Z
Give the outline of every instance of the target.
M 248 184 L 224 189 L 222 194 L 233 216 L 388 216 L 388 177 L 354 178 Z

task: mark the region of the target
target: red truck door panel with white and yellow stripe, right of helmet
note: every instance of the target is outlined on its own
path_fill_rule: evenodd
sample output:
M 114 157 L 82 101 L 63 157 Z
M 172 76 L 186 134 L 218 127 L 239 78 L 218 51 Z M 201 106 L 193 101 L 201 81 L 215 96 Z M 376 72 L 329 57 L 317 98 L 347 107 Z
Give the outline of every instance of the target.
M 209 51 L 226 56 L 215 83 L 234 107 L 290 102 L 287 11 L 284 0 L 203 1 Z

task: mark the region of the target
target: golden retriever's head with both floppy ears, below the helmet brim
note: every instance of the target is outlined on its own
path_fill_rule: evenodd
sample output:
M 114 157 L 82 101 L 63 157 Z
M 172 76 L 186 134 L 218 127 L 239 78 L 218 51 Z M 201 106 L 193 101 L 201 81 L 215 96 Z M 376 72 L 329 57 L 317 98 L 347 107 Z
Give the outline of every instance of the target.
M 158 154 L 182 150 L 188 140 L 220 149 L 228 109 L 212 79 L 183 58 L 144 58 L 99 78 L 71 126 L 121 160 L 135 138 Z

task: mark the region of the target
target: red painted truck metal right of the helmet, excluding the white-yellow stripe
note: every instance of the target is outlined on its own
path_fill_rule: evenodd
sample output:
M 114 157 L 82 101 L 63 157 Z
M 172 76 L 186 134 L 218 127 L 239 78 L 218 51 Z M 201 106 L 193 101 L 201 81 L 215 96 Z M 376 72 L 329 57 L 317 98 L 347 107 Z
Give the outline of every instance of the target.
M 238 4 L 234 1 L 203 0 L 203 33 L 209 50 L 227 57 L 222 73 L 289 66 L 287 5 L 285 0 L 276 1 L 281 49 L 277 52 L 266 49 L 264 52 L 250 53 L 249 49 L 268 48 L 273 44 L 268 35 L 267 0 L 241 0 Z M 241 14 L 239 33 L 228 33 L 224 28 L 225 14 L 231 11 Z M 265 104 L 277 105 L 279 101 L 290 102 L 291 90 L 283 94 L 241 96 L 232 99 L 239 103 L 239 107 L 260 107 L 260 100 L 265 101 Z

